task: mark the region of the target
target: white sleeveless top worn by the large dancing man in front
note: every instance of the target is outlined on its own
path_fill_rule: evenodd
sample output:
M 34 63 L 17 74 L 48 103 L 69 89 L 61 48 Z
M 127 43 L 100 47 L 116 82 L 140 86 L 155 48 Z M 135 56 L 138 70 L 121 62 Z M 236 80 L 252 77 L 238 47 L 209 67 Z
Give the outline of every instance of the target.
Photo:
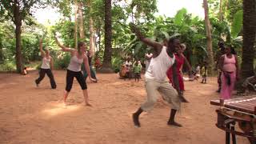
M 146 70 L 145 77 L 158 81 L 166 80 L 166 72 L 174 64 L 175 56 L 170 58 L 166 52 L 166 46 L 162 46 L 162 51 L 156 58 L 151 58 L 150 66 Z

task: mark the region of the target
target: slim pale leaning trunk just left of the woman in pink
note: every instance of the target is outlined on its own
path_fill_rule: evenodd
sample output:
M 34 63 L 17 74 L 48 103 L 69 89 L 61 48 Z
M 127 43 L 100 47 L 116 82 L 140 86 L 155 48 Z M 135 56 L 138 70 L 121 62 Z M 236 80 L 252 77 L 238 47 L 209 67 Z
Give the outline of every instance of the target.
M 209 67 L 209 74 L 213 73 L 213 66 L 214 66 L 214 57 L 213 57 L 213 45 L 212 45 L 212 38 L 211 38 L 211 25 L 210 19 L 208 14 L 208 2 L 207 0 L 203 0 L 203 7 L 205 9 L 205 24 L 206 24 L 206 38 L 207 38 L 207 51 L 208 51 L 208 67 Z

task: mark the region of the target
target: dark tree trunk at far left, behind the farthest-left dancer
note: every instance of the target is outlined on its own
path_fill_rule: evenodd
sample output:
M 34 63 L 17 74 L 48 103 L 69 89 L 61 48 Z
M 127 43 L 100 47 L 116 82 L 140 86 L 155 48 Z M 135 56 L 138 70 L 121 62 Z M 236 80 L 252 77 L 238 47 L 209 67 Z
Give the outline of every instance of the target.
M 16 1 L 14 1 L 16 2 Z M 18 2 L 14 4 L 14 24 L 15 24 L 15 37 L 16 37 L 16 70 L 18 73 L 22 73 L 22 15 L 20 14 L 20 7 Z

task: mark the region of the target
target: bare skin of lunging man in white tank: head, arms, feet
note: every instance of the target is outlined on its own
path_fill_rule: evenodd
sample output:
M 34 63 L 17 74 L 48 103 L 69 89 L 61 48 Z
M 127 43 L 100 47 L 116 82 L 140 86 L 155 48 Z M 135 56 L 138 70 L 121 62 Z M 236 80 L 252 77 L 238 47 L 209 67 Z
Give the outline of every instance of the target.
M 151 46 L 153 47 L 153 58 L 156 58 L 158 57 L 158 55 L 161 53 L 162 51 L 162 44 L 161 43 L 158 43 L 158 42 L 154 42 L 154 41 L 151 41 L 149 38 L 145 38 L 140 30 L 138 30 L 138 28 L 134 25 L 134 24 L 130 24 L 130 28 L 131 30 L 134 32 L 134 34 L 136 34 L 136 36 L 142 41 L 144 42 L 146 45 L 148 46 Z M 168 42 L 168 47 L 166 49 L 166 52 L 167 54 L 170 56 L 170 58 L 173 58 L 174 57 L 174 50 L 175 50 L 175 47 L 179 47 L 180 46 L 180 42 L 178 40 L 178 38 L 174 39 L 173 41 L 169 41 Z M 178 91 L 178 96 L 181 100 L 181 102 L 188 102 L 186 100 L 186 98 L 184 98 L 182 96 L 182 93 L 179 89 L 179 85 L 178 85 L 178 76 L 177 76 L 177 70 L 176 70 L 176 61 L 174 62 L 174 65 L 172 66 L 173 67 L 173 82 L 174 82 L 174 88 Z M 134 126 L 137 126 L 137 127 L 140 127 L 140 122 L 138 120 L 138 117 L 140 114 L 142 114 L 143 110 L 142 108 L 140 107 L 134 114 L 133 114 L 133 121 L 134 121 Z M 176 114 L 177 110 L 174 110 L 174 109 L 171 109 L 170 110 L 170 118 L 169 118 L 169 121 L 167 122 L 168 125 L 172 125 L 172 126 L 179 126 L 181 127 L 182 125 L 179 124 L 178 122 L 175 122 L 174 121 L 174 117 L 175 117 L 175 114 Z

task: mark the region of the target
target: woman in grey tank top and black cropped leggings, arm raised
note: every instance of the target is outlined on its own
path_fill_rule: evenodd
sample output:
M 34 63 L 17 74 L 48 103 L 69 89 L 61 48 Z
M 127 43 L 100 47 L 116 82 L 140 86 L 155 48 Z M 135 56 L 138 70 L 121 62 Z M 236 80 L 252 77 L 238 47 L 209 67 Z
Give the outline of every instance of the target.
M 82 71 L 81 71 L 82 62 L 84 62 L 88 77 L 90 78 L 91 81 L 93 81 L 93 82 L 96 81 L 90 77 L 90 67 L 88 64 L 88 58 L 85 54 L 86 44 L 84 42 L 78 42 L 78 50 L 75 50 L 72 48 L 67 48 L 66 46 L 62 46 L 58 42 L 57 38 L 55 38 L 55 40 L 56 40 L 58 46 L 60 46 L 63 51 L 71 53 L 70 64 L 67 67 L 67 72 L 66 72 L 66 90 L 64 92 L 64 97 L 63 97 L 64 105 L 66 106 L 66 98 L 70 94 L 70 90 L 72 88 L 73 80 L 75 77 L 75 78 L 77 78 L 77 80 L 82 88 L 83 96 L 85 98 L 85 105 L 91 106 L 90 103 L 88 102 L 89 100 L 88 100 L 87 86 L 86 86 L 86 82 L 82 76 Z

